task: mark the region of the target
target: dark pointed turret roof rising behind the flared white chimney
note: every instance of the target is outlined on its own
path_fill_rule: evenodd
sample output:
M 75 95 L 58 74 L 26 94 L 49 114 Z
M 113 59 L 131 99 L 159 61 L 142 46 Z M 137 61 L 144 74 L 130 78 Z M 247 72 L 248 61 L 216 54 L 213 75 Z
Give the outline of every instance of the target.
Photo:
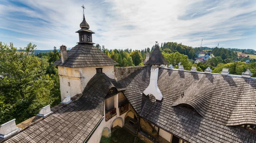
M 156 45 L 156 48 L 152 51 L 149 56 L 149 59 L 145 64 L 154 65 L 154 64 L 169 64 L 169 62 L 164 59 L 163 54 L 160 51 L 159 45 Z

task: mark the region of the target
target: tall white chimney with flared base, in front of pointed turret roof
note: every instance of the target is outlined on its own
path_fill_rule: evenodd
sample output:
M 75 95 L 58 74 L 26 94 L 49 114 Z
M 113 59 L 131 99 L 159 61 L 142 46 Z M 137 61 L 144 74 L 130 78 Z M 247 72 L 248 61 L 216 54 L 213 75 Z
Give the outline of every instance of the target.
M 158 79 L 158 67 L 152 66 L 150 73 L 150 82 L 148 87 L 143 91 L 145 95 L 152 94 L 156 98 L 156 100 L 161 101 L 163 99 L 163 95 L 159 88 L 157 87 L 157 79 Z

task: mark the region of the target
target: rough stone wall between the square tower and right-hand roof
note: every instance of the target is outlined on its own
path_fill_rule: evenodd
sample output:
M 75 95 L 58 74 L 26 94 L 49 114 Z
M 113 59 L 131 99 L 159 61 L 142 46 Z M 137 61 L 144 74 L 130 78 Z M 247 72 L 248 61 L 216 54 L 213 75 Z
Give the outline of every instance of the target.
M 117 81 L 124 79 L 136 70 L 142 69 L 143 66 L 137 67 L 114 67 L 115 79 Z

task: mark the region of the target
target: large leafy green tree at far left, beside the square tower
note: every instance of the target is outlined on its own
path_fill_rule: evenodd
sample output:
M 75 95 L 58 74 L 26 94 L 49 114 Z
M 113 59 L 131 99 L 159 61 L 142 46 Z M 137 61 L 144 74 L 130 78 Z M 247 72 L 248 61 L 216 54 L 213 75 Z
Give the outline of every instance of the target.
M 0 42 L 0 124 L 13 118 L 20 123 L 47 104 L 60 102 L 59 89 L 55 90 L 59 82 L 45 74 L 45 59 L 31 54 L 35 47 L 29 43 L 17 50 L 12 43 Z

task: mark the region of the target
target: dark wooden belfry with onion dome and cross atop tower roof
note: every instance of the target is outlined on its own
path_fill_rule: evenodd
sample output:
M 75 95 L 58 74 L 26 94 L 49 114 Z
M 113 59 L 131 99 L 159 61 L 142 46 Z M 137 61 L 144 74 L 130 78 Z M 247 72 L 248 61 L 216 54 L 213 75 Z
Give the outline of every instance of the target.
M 76 33 L 79 34 L 79 42 L 78 44 L 83 44 L 83 45 L 93 45 L 93 36 L 92 34 L 95 34 L 93 31 L 90 31 L 89 24 L 86 22 L 84 18 L 84 5 L 82 6 L 83 8 L 83 21 L 80 23 L 80 30 L 76 31 Z

